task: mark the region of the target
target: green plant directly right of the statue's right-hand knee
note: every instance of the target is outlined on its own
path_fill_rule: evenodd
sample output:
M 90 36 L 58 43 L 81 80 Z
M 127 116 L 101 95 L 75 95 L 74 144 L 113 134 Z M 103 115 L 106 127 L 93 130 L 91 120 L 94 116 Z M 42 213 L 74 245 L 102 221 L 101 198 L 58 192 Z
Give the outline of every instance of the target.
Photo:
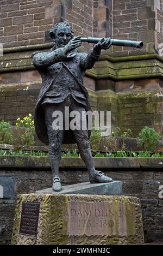
M 95 129 L 95 125 L 93 124 L 90 136 L 91 150 L 99 150 L 103 142 L 104 136 L 102 136 L 102 129 L 100 127 L 98 127 L 98 129 Z

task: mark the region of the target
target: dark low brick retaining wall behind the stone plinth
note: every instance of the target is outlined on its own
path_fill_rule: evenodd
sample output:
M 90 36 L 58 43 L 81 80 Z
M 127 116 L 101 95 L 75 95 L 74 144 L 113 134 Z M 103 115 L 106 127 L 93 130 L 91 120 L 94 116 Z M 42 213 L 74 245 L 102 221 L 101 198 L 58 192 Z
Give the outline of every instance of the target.
M 33 161 L 33 159 L 32 159 Z M 40 160 L 41 162 L 41 160 Z M 114 180 L 123 181 L 123 195 L 138 197 L 142 205 L 143 229 L 145 242 L 162 242 L 163 200 L 159 199 L 159 185 L 162 184 L 161 169 L 98 169 Z M 15 176 L 15 192 L 33 193 L 34 191 L 52 186 L 50 168 L 1 168 L 1 175 Z M 70 168 L 60 170 L 62 184 L 88 181 L 86 169 Z M 16 198 L 16 197 L 15 197 Z M 15 200 L 0 199 L 0 244 L 9 245 L 14 223 Z

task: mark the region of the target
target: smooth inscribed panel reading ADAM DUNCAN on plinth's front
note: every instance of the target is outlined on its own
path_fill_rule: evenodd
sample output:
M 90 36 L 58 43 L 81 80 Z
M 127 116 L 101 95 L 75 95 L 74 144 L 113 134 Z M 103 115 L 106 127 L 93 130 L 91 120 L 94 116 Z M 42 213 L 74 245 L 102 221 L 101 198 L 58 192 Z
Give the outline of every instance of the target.
M 70 201 L 65 212 L 69 235 L 134 235 L 133 204 Z

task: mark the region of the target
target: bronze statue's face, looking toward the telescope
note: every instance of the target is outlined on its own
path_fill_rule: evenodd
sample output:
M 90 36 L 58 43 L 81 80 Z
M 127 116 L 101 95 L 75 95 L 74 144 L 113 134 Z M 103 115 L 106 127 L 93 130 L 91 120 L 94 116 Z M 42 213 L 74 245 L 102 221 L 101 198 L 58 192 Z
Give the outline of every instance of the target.
M 68 27 L 61 27 L 55 33 L 55 46 L 57 48 L 64 47 L 71 39 L 73 38 L 73 34 L 71 29 Z

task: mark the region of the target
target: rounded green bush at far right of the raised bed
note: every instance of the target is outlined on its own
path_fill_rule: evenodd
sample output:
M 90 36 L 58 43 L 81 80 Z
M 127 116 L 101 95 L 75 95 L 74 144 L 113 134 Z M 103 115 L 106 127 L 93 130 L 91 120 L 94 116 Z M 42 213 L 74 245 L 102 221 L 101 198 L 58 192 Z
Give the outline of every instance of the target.
M 159 134 L 156 133 L 153 128 L 149 128 L 148 126 L 145 126 L 139 133 L 139 137 L 136 138 L 137 145 L 143 145 L 147 151 L 153 151 L 158 140 Z

